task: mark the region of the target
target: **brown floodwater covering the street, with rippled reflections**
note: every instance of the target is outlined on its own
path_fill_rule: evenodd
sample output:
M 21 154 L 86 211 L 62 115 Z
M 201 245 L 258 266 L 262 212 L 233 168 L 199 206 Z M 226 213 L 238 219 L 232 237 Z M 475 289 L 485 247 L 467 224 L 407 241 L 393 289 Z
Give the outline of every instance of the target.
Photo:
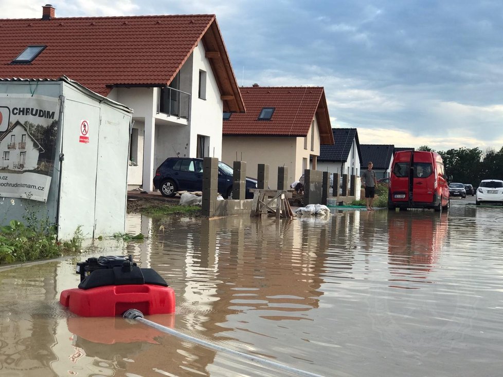
M 503 209 L 327 218 L 128 215 L 133 254 L 175 290 L 185 334 L 325 376 L 494 376 L 503 370 Z M 87 258 L 90 255 L 86 255 Z M 278 376 L 122 318 L 59 304 L 75 263 L 0 271 L 0 376 Z

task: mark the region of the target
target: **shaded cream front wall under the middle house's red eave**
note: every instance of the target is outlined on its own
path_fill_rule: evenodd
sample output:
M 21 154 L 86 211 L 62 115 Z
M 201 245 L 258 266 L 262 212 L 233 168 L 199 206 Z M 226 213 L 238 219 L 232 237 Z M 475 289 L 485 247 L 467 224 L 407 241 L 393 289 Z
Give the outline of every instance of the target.
M 257 178 L 258 164 L 268 164 L 269 186 L 276 190 L 278 187 L 278 166 L 288 167 L 289 184 L 302 175 L 302 160 L 296 158 L 297 139 L 226 136 L 222 141 L 222 161 L 232 166 L 236 161 L 237 154 L 239 161 L 246 161 L 246 175 L 252 178 Z

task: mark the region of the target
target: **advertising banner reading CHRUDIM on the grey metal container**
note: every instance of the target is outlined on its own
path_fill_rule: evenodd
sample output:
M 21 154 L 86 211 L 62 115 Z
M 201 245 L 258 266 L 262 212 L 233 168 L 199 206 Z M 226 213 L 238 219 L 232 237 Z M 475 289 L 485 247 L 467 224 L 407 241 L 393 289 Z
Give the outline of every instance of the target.
M 0 93 L 0 196 L 47 201 L 59 100 Z

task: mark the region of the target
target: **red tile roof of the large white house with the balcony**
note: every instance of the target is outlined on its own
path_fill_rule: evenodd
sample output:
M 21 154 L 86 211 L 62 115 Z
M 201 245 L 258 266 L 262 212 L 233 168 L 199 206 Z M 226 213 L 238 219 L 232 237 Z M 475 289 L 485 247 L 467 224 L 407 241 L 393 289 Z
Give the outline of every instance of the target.
M 244 111 L 214 15 L 0 20 L 0 77 L 63 75 L 106 96 L 113 86 L 165 86 L 201 41 L 213 52 L 224 107 Z M 46 45 L 30 64 L 10 64 L 28 45 Z

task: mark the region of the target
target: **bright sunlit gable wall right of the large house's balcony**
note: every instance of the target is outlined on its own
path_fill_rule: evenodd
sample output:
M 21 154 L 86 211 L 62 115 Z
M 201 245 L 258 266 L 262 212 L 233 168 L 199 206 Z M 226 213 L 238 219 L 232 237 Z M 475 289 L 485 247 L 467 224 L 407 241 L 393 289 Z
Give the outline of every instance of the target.
M 198 97 L 199 70 L 206 72 L 206 100 Z M 189 157 L 196 157 L 197 135 L 209 137 L 204 156 L 222 159 L 222 112 L 223 102 L 210 63 L 205 58 L 203 44 L 193 52 L 192 107 L 190 111 Z

